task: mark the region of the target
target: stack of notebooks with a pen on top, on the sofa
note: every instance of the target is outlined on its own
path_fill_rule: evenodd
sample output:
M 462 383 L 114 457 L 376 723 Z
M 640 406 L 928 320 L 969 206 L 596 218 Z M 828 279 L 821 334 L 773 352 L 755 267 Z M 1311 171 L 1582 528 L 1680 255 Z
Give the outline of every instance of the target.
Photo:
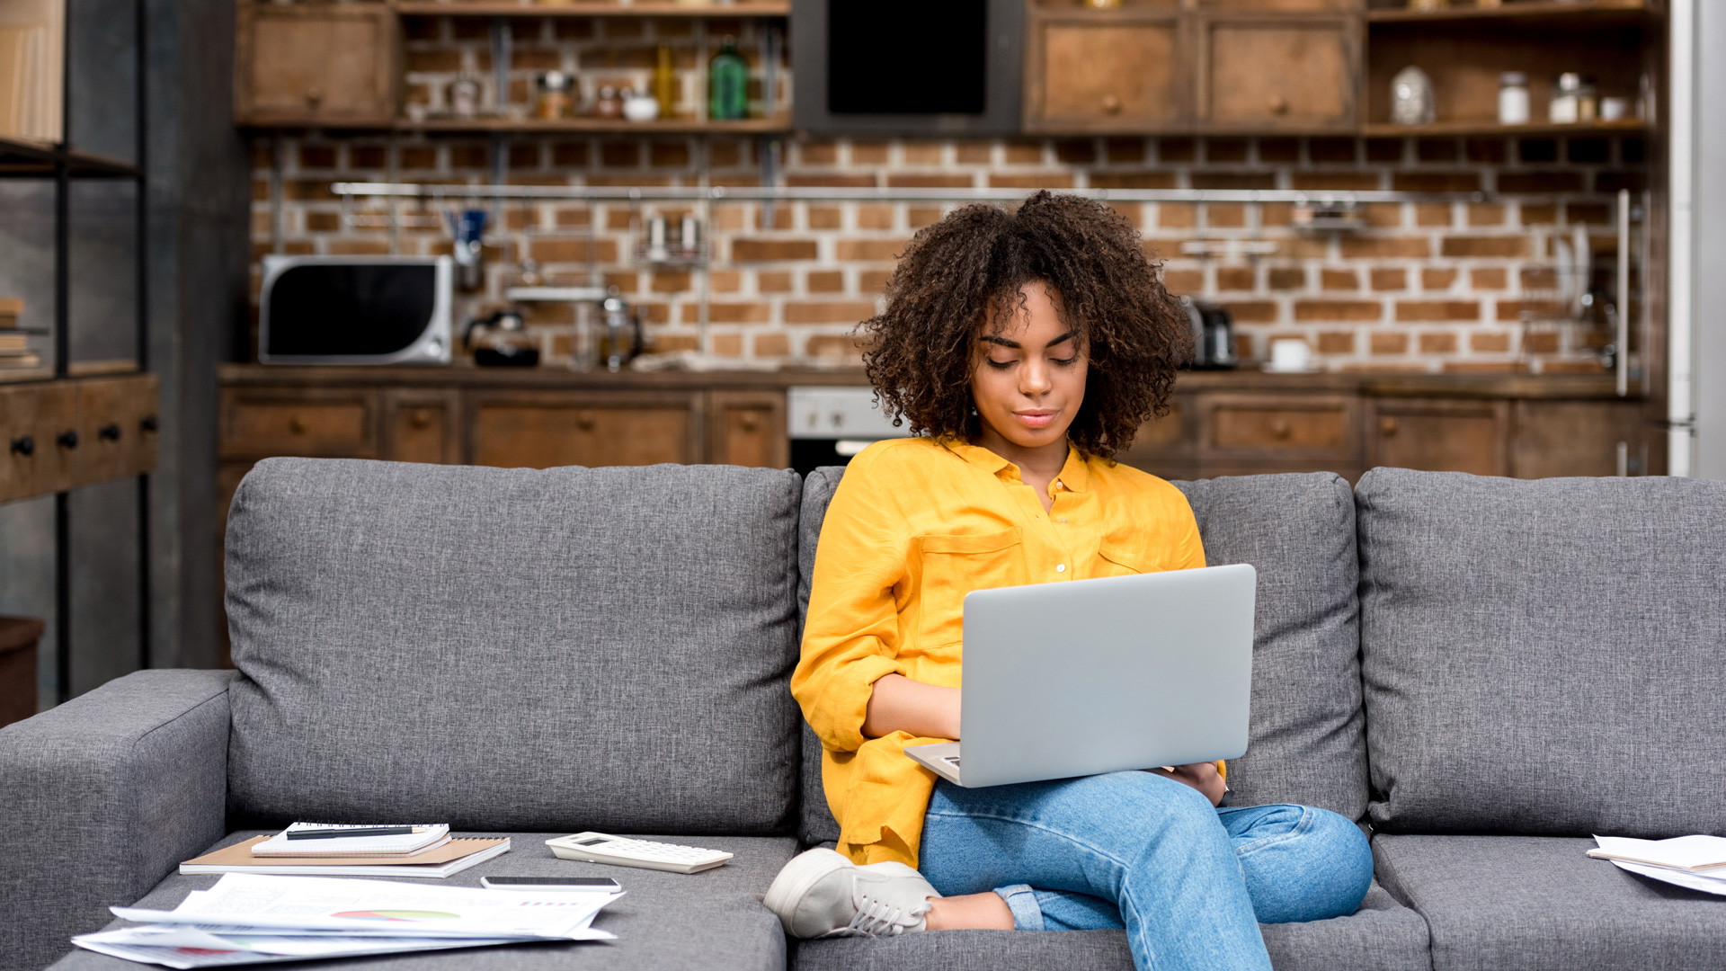
M 223 847 L 180 873 L 445 878 L 509 852 L 509 840 L 452 840 L 445 824 L 331 826 L 295 822 L 274 836 Z

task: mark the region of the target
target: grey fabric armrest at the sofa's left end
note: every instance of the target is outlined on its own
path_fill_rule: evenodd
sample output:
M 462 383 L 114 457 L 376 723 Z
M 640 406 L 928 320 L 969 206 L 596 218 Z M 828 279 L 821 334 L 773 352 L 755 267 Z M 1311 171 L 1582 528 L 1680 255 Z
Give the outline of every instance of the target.
M 224 833 L 228 670 L 140 670 L 0 729 L 0 969 L 41 968 Z

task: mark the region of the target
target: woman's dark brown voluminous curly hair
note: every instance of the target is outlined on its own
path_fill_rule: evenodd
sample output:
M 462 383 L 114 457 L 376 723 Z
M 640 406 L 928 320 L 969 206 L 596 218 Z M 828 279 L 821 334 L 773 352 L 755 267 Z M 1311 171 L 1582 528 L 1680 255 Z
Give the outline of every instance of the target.
M 975 337 L 1017 313 L 1034 280 L 1055 290 L 1061 323 L 1079 332 L 1091 363 L 1072 444 L 1110 458 L 1167 415 L 1191 327 L 1139 232 L 1101 202 L 1037 192 L 1017 213 L 965 206 L 920 230 L 887 280 L 885 313 L 858 325 L 870 384 L 894 425 L 977 437 Z

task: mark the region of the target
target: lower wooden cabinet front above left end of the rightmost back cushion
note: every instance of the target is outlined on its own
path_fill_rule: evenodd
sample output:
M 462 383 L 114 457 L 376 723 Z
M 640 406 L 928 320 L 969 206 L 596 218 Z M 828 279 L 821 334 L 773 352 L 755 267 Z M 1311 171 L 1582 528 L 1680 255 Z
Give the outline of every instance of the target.
M 1510 473 L 1510 403 L 1379 397 L 1367 418 L 1367 465 Z

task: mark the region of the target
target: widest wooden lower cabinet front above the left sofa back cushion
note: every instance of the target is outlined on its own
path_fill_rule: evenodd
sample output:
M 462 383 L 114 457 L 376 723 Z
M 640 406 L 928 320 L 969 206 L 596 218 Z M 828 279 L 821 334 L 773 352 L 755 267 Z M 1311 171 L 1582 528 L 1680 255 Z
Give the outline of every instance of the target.
M 471 406 L 475 465 L 654 465 L 697 461 L 696 396 L 520 394 Z

